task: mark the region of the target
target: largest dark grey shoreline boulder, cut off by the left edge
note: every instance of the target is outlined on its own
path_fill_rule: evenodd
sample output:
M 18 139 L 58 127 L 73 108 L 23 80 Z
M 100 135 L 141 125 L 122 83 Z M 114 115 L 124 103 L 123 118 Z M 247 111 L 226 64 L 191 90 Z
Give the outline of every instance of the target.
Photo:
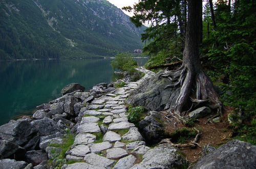
M 29 149 L 33 147 L 33 144 L 37 144 L 39 141 L 37 132 L 37 128 L 28 120 L 11 121 L 0 126 L 0 140 L 9 140 L 10 142 Z

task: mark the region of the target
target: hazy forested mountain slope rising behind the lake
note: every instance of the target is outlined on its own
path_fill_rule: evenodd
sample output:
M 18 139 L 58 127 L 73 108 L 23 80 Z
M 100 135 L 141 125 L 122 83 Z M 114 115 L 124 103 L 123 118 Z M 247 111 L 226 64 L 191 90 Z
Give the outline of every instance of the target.
M 144 29 L 106 0 L 0 0 L 0 59 L 113 56 Z

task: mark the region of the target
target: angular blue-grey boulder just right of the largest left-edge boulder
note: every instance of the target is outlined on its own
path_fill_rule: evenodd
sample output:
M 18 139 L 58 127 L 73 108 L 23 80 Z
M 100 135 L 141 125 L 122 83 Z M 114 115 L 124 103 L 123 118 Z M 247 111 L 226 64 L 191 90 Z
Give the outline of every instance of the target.
M 57 132 L 63 133 L 64 131 L 60 129 L 56 123 L 49 118 L 44 118 L 40 120 L 35 120 L 31 122 L 38 129 L 39 136 L 52 135 Z

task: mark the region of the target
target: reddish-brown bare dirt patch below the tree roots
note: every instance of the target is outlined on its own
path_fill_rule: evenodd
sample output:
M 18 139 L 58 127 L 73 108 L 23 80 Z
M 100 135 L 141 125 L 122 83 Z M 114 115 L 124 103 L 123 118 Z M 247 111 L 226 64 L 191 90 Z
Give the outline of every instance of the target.
M 180 148 L 180 150 L 186 155 L 188 162 L 191 163 L 195 161 L 198 157 L 200 157 L 200 153 L 203 150 L 204 145 L 210 144 L 214 147 L 219 147 L 222 144 L 227 143 L 231 140 L 229 138 L 231 134 L 231 129 L 230 127 L 228 127 L 229 122 L 227 120 L 227 115 L 229 112 L 232 111 L 232 108 L 225 107 L 220 123 L 211 123 L 207 121 L 206 117 L 198 119 L 199 122 L 195 122 L 193 127 L 186 127 L 179 121 L 174 120 L 175 118 L 173 118 L 173 123 L 169 123 L 170 125 L 166 128 L 166 131 L 168 133 L 172 133 L 175 131 L 175 129 L 184 127 L 190 130 L 193 130 L 194 127 L 200 129 L 200 132 L 202 132 L 202 134 L 199 137 L 198 146 L 196 146 L 196 148 Z M 176 128 L 174 126 L 175 122 L 177 123 Z M 187 140 L 186 143 L 190 143 L 191 140 L 194 140 L 194 138 Z

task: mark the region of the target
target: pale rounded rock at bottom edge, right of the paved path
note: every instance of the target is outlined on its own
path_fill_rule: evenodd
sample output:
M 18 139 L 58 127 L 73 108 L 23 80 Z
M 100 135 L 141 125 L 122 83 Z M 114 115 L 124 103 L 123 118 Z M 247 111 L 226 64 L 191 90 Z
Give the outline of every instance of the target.
M 131 168 L 183 168 L 185 162 L 185 155 L 179 149 L 169 144 L 160 144 L 148 150 L 143 160 Z

